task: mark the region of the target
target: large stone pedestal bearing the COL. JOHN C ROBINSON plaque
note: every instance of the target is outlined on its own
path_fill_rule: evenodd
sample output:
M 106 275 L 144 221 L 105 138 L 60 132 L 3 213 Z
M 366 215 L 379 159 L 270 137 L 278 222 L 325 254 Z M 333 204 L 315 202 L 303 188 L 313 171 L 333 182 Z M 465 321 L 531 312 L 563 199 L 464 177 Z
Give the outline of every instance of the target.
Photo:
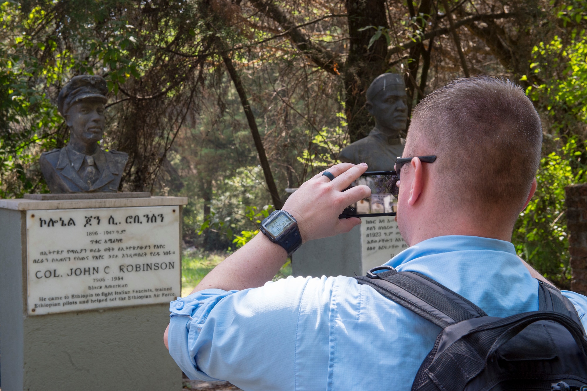
M 183 197 L 0 200 L 0 387 L 181 390 Z

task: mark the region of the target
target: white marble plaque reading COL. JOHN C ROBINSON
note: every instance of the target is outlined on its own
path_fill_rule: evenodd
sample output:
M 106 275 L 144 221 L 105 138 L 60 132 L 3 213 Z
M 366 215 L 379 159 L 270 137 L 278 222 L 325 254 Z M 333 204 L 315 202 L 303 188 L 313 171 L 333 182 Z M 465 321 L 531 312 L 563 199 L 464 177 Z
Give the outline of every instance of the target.
M 26 212 L 28 314 L 180 295 L 178 206 Z

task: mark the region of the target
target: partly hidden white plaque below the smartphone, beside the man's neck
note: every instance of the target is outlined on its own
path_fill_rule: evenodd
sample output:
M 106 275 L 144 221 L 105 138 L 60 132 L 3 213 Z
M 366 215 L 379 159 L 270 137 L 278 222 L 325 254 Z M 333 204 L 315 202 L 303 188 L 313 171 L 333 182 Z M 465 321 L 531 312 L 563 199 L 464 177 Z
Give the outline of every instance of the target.
M 383 265 L 406 250 L 394 216 L 361 218 L 362 272 Z

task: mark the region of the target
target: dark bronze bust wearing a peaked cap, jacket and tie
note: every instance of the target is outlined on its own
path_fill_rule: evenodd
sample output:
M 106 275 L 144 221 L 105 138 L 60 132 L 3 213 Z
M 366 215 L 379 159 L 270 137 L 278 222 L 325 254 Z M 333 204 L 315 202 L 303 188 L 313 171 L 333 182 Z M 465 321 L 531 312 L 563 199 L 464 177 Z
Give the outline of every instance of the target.
M 104 151 L 106 80 L 73 77 L 59 92 L 58 109 L 70 130 L 69 144 L 41 154 L 39 164 L 51 193 L 116 192 L 129 159 L 124 152 Z

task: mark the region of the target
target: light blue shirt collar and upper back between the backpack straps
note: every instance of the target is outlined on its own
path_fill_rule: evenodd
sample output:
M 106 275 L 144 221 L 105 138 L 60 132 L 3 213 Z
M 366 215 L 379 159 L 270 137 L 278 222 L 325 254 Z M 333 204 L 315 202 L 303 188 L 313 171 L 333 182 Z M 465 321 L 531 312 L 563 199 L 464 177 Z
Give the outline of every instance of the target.
M 538 282 L 510 242 L 447 235 L 422 241 L 386 265 L 434 279 L 474 302 L 490 316 L 538 310 Z

